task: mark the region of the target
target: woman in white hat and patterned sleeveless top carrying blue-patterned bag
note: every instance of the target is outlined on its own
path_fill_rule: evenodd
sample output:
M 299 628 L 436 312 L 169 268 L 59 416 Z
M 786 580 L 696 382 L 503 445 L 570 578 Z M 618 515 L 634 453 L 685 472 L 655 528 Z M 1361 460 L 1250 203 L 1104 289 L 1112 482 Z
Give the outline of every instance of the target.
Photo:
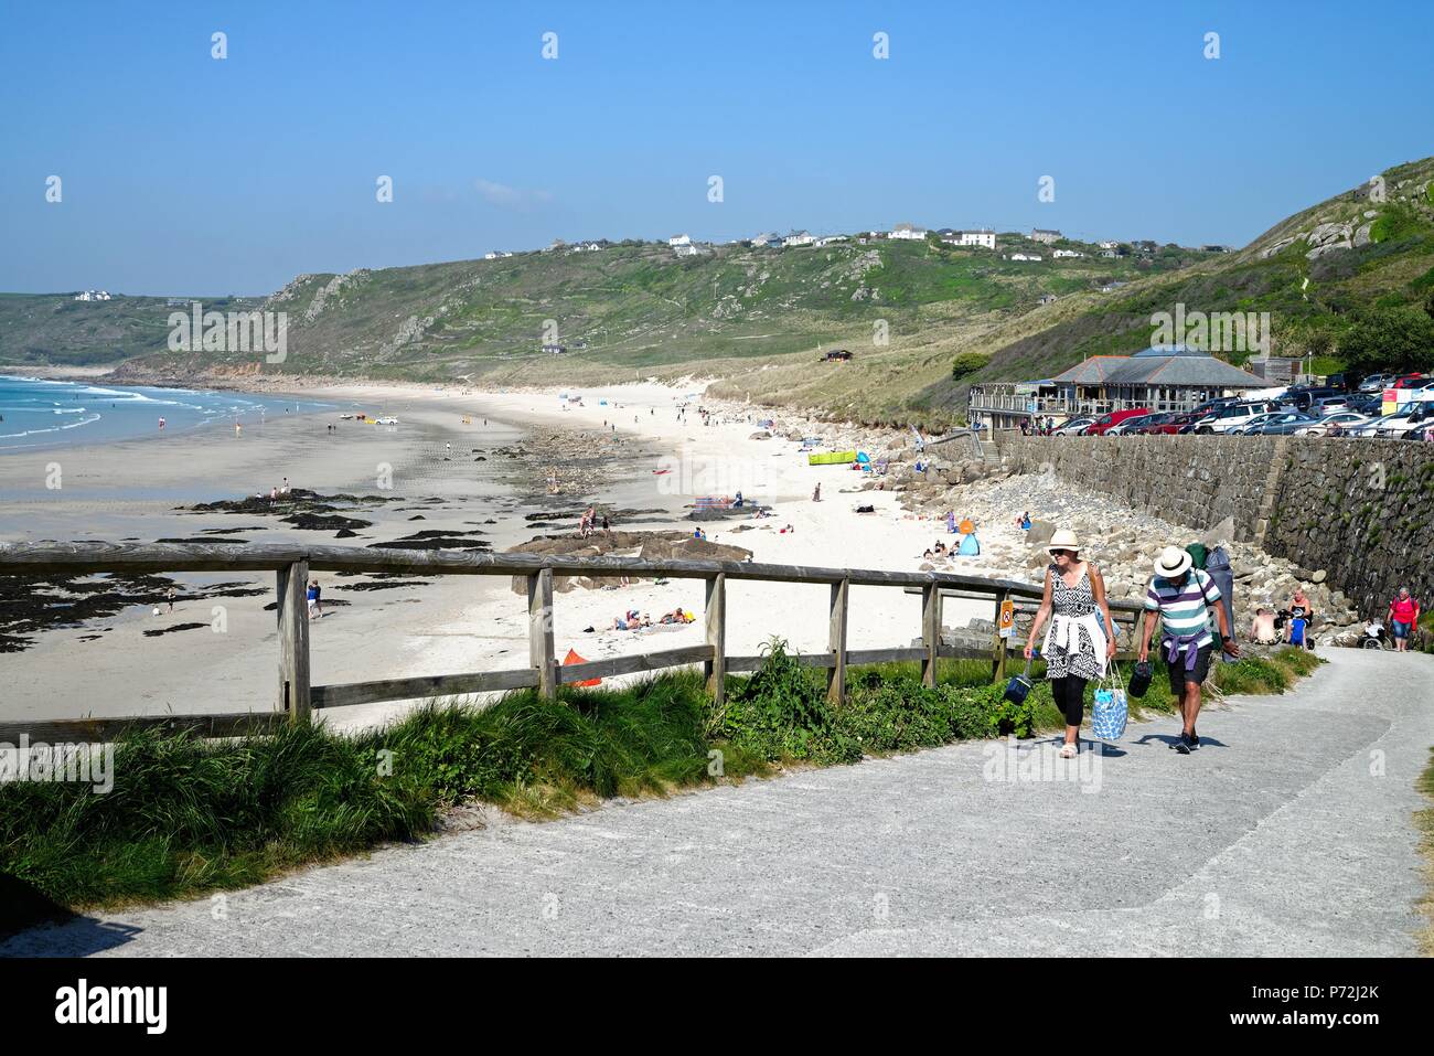
M 1035 636 L 1050 620 L 1045 644 L 1045 677 L 1051 697 L 1065 716 L 1065 743 L 1061 758 L 1080 752 L 1080 725 L 1086 717 L 1086 684 L 1106 674 L 1106 664 L 1116 656 L 1116 638 L 1104 627 L 1114 627 L 1106 601 L 1106 581 L 1090 561 L 1080 558 L 1080 539 L 1070 529 L 1051 535 L 1045 547 L 1051 564 L 1045 568 L 1041 607 L 1035 610 L 1031 633 L 1025 640 L 1025 659 L 1035 654 Z M 1104 624 L 1097 618 L 1104 617 Z

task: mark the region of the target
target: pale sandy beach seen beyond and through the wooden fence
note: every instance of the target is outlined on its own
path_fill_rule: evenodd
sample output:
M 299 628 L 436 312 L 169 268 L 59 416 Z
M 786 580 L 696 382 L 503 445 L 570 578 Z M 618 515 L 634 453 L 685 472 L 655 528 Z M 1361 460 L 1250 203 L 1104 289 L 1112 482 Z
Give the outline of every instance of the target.
M 896 494 L 860 489 L 862 475 L 850 466 L 810 466 L 799 443 L 776 435 L 756 439 L 763 436 L 757 423 L 770 412 L 690 399 L 701 387 L 608 386 L 585 390 L 582 406 L 559 399 L 559 390 L 304 387 L 298 393 L 304 399 L 333 403 L 336 410 L 270 418 L 242 435 L 215 428 L 182 439 L 148 438 L 0 458 L 0 541 L 241 538 L 334 544 L 331 531 L 304 531 L 272 517 L 179 509 L 264 495 L 284 478 L 293 488 L 324 495 L 377 494 L 387 499 L 357 514 L 370 524 L 338 545 L 390 542 L 423 529 L 480 532 L 470 538 L 505 550 L 543 531 L 575 529 L 564 522 L 535 529 L 525 521 L 528 514 L 589 502 L 618 511 L 660 511 L 627 522 L 619 518 L 614 528 L 690 532 L 694 524 L 685 518 L 695 495 L 739 491 L 769 506 L 773 517 L 703 527 L 711 541 L 744 547 L 757 561 L 913 570 L 922 564 L 921 552 L 944 534 L 942 524 L 903 512 Z M 684 403 L 687 412 L 680 416 Z M 706 425 L 698 405 L 711 412 Z M 338 418 L 357 410 L 393 415 L 400 423 L 384 428 Z M 820 429 L 833 440 L 843 435 L 833 426 Z M 543 494 L 542 453 L 556 438 L 568 438 L 568 451 L 575 442 L 584 448 L 601 440 L 618 445 L 621 453 L 595 471 L 584 469 L 582 479 L 549 498 Z M 886 435 L 888 443 L 899 439 Z M 525 448 L 523 458 L 512 453 L 515 445 Z M 56 465 L 63 484 L 46 488 Z M 386 472 L 391 478 L 387 489 Z M 819 482 L 822 498 L 813 501 Z M 853 512 L 859 502 L 873 505 L 875 512 Z M 790 531 L 782 531 L 787 527 Z M 172 578 L 179 590 L 172 614 L 166 604 L 159 616 L 149 604 L 132 604 L 76 627 L 44 630 L 23 651 L 7 653 L 0 719 L 272 709 L 277 641 L 274 613 L 264 608 L 272 605 L 272 577 Z M 320 580 L 327 611 L 311 623 L 314 684 L 526 664 L 525 601 L 506 577 L 399 584 L 370 577 Z M 640 581 L 562 593 L 555 604 L 558 654 L 575 649 L 597 660 L 700 644 L 700 621 L 638 633 L 605 630 L 627 610 L 651 614 L 655 621 L 678 605 L 700 614 L 701 583 Z M 946 605 L 948 626 L 972 616 L 989 618 L 975 603 Z M 185 624 L 191 626 L 155 634 Z M 918 633 L 916 597 L 901 590 L 853 588 L 852 649 L 905 646 Z M 802 651 L 823 651 L 826 588 L 731 584 L 728 650 L 754 653 L 774 634 Z M 409 706 L 412 702 L 340 709 L 326 719 L 336 726 L 367 725 Z

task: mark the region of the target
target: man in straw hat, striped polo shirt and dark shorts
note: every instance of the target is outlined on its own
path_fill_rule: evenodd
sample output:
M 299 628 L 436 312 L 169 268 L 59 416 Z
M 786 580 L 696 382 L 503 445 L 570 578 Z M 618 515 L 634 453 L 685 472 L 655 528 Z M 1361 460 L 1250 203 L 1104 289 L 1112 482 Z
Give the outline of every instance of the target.
M 1190 554 L 1179 547 L 1166 547 L 1156 558 L 1156 575 L 1146 591 L 1146 611 L 1160 614 L 1160 651 L 1170 669 L 1170 690 L 1180 700 L 1183 729 L 1174 748 L 1180 755 L 1200 746 L 1195 720 L 1200 715 L 1200 686 L 1210 670 L 1210 611 L 1220 628 L 1220 646 L 1230 656 L 1240 647 L 1230 634 L 1230 621 L 1220 601 L 1220 588 L 1203 568 L 1195 568 Z M 1140 661 L 1150 654 L 1150 637 L 1156 621 L 1146 620 L 1140 643 Z

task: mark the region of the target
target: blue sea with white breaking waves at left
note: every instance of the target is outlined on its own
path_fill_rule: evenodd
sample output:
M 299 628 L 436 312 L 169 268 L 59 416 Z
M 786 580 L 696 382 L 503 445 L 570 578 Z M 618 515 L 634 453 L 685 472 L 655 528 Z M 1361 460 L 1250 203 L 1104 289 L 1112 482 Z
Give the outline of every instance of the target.
M 215 423 L 260 425 L 327 403 L 293 396 L 53 382 L 0 374 L 0 455 L 189 432 Z

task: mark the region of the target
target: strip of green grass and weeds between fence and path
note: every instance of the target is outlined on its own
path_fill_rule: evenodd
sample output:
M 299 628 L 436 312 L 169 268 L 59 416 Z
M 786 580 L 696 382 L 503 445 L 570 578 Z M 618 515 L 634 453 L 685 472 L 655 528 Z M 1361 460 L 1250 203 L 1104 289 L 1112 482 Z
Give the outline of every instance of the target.
M 1292 650 L 1293 651 L 1293 650 Z M 1308 657 L 1311 663 L 1312 657 Z M 1281 692 L 1304 660 L 1242 660 L 1216 679 Z M 660 796 L 792 765 L 853 763 L 962 739 L 1027 737 L 1063 725 L 1038 680 L 1004 699 L 985 661 L 849 671 L 832 706 L 825 676 L 773 643 L 760 670 L 714 707 L 695 671 L 621 689 L 532 690 L 488 706 L 430 703 L 360 736 L 301 725 L 209 742 L 135 730 L 115 745 L 113 789 L 0 785 L 0 934 L 63 910 L 194 897 L 430 834 L 445 809 L 498 805 L 548 818 L 614 796 Z M 1162 666 L 1144 709 L 1172 710 Z

